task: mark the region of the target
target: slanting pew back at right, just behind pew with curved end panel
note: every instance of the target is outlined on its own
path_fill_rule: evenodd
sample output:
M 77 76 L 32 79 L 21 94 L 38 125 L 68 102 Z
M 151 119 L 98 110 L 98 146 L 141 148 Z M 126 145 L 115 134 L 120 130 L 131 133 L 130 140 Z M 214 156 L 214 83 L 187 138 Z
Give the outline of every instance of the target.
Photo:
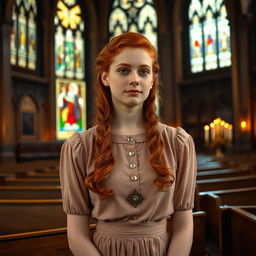
M 239 187 L 256 186 L 256 175 L 238 176 L 232 178 L 197 180 L 199 192 L 221 189 L 233 189 Z

